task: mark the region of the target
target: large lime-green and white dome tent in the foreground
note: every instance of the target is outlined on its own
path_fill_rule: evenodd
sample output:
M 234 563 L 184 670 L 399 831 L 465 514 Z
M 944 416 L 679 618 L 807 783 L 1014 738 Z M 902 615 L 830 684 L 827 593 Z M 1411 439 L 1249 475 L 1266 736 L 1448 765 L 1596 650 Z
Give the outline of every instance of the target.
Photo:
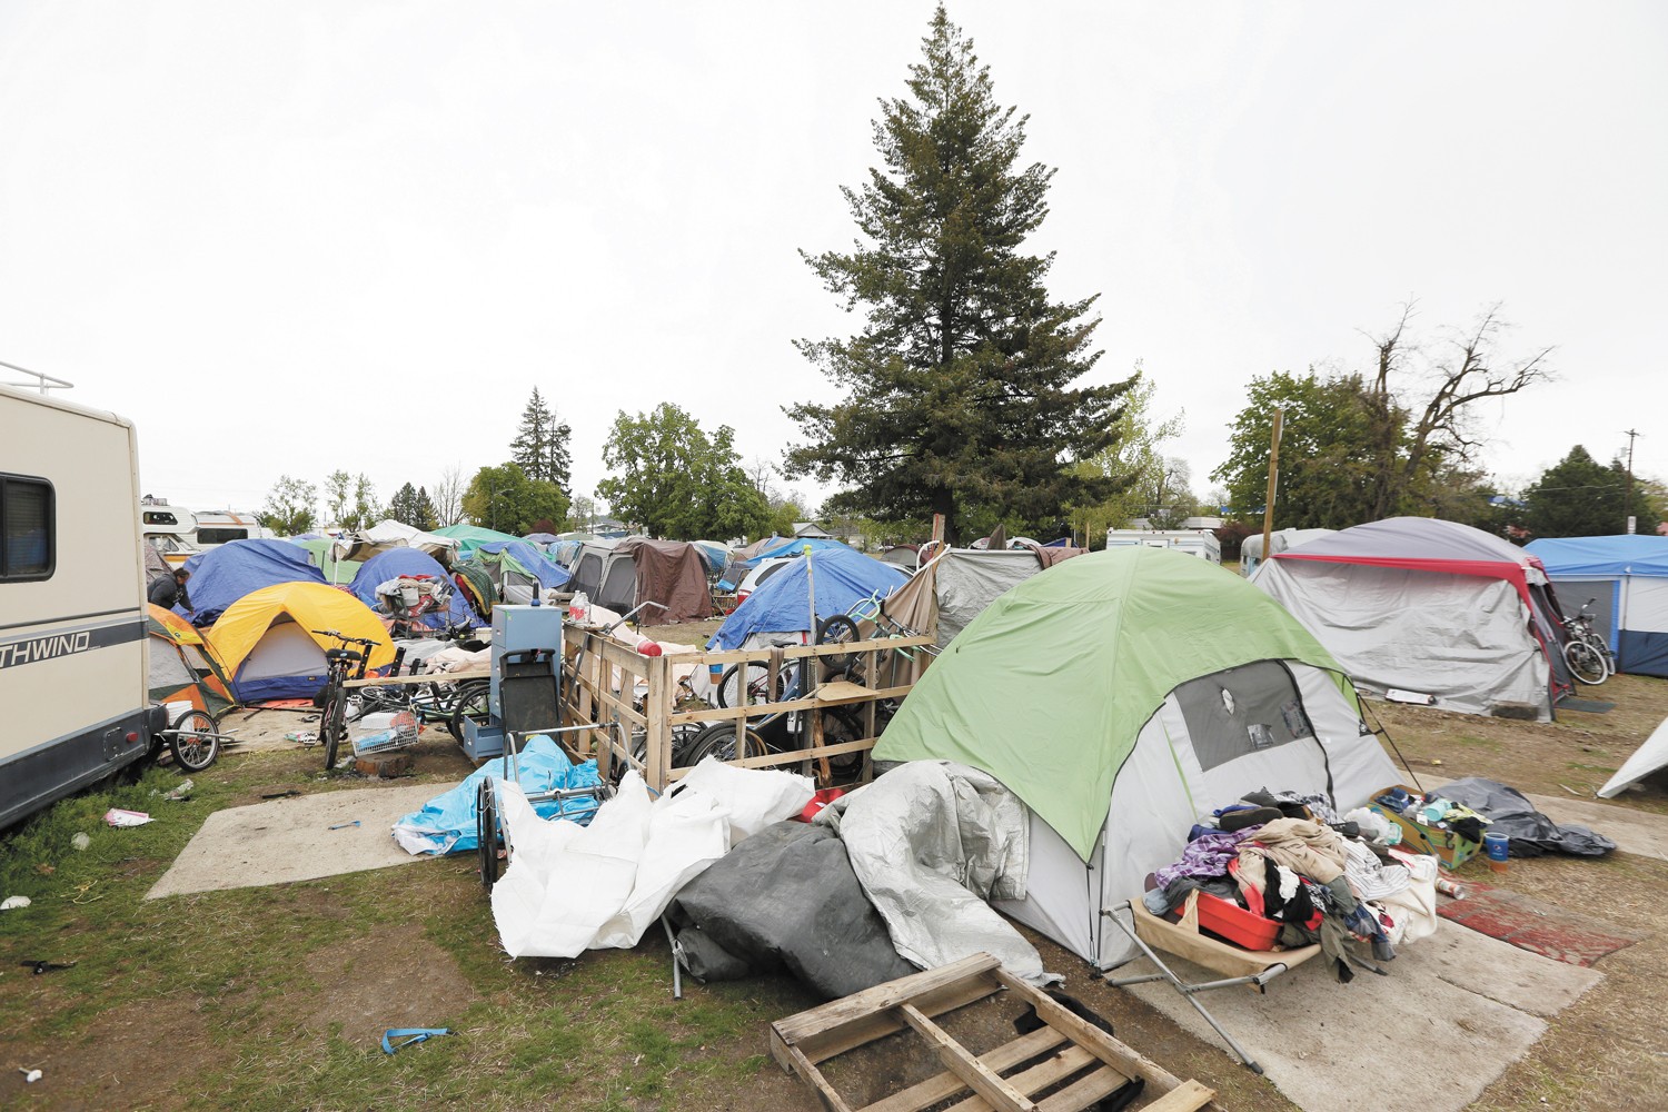
M 976 617 L 876 760 L 954 760 L 1031 810 L 1026 899 L 1001 904 L 1099 967 L 1194 822 L 1268 787 L 1348 810 L 1399 780 L 1338 662 L 1233 572 L 1163 548 L 1068 560 Z

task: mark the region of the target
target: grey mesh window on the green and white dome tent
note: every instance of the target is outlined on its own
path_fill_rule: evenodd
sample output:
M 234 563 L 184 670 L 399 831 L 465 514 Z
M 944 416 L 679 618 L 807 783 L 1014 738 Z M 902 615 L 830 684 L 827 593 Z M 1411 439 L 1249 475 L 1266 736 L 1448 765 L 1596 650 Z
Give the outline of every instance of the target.
M 1236 757 L 1314 737 L 1291 674 L 1258 660 L 1176 689 L 1199 767 L 1211 770 Z

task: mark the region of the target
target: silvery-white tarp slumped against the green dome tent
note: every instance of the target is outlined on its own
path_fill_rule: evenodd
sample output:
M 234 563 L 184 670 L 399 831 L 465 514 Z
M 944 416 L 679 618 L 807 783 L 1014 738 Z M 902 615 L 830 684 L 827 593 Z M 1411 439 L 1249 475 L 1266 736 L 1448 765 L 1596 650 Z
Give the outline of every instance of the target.
M 837 827 L 852 872 L 892 945 L 921 969 L 991 954 L 1048 984 L 1036 947 L 986 900 L 1022 900 L 1024 804 L 994 777 L 949 760 L 912 760 L 817 814 Z

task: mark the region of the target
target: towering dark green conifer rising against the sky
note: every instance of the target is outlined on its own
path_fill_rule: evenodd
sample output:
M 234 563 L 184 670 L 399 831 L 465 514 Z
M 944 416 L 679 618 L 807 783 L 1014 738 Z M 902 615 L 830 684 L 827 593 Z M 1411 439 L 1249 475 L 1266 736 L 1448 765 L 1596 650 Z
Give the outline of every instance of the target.
M 951 538 L 981 508 L 1054 522 L 1114 492 L 1071 463 L 1114 442 L 1129 382 L 1073 387 L 1099 358 L 1099 317 L 1094 297 L 1051 300 L 1053 253 L 1022 252 L 1054 177 L 1019 165 L 1027 117 L 996 103 L 942 5 L 922 55 L 909 98 L 881 103 L 882 167 L 842 190 L 862 238 L 851 253 L 802 253 L 867 320 L 849 338 L 797 342 L 844 398 L 786 408 L 806 437 L 786 470 L 842 483 L 836 512 L 942 513 Z

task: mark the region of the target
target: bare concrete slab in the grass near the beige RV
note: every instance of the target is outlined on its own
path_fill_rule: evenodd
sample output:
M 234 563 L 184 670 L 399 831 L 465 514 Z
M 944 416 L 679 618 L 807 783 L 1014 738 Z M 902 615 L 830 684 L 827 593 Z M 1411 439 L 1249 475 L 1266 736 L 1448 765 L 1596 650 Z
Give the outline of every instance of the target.
M 217 810 L 145 899 L 315 880 L 424 860 L 400 849 L 389 830 L 395 819 L 444 790 L 445 785 L 402 784 Z M 355 819 L 357 827 L 330 829 Z

